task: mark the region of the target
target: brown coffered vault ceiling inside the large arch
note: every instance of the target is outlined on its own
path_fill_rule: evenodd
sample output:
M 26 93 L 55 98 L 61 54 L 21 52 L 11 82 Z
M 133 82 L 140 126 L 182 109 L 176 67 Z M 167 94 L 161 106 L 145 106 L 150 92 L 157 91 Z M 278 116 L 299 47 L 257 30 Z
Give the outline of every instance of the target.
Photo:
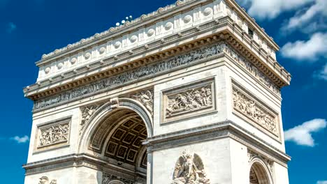
M 146 169 L 147 139 L 143 119 L 130 109 L 119 109 L 106 117 L 94 131 L 89 149 L 118 162 Z

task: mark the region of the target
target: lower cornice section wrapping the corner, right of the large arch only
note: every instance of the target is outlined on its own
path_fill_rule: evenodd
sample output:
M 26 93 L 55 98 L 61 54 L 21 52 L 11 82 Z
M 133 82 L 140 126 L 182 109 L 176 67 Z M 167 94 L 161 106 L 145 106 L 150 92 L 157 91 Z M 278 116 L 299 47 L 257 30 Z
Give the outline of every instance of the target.
M 202 136 L 201 139 L 196 137 Z M 249 148 L 260 150 L 261 153 L 269 153 L 270 158 L 275 158 L 275 160 L 285 164 L 291 160 L 291 157 L 286 153 L 279 150 L 275 146 L 272 146 L 267 141 L 256 137 L 251 132 L 248 132 L 240 125 L 234 123 L 233 121 L 226 120 L 219 123 L 214 123 L 211 125 L 205 125 L 197 128 L 191 128 L 187 130 L 180 130 L 177 132 L 171 132 L 164 135 L 157 135 L 148 138 L 143 142 L 146 146 L 150 147 L 151 151 L 157 151 L 166 148 L 172 148 L 173 146 L 182 146 L 183 142 L 185 144 L 209 141 L 211 139 L 219 139 L 223 137 L 229 137 L 235 139 L 235 141 L 240 141 L 242 144 Z M 182 141 L 182 139 L 187 139 Z M 173 144 L 175 142 L 175 144 Z M 277 159 L 276 159 L 277 158 Z

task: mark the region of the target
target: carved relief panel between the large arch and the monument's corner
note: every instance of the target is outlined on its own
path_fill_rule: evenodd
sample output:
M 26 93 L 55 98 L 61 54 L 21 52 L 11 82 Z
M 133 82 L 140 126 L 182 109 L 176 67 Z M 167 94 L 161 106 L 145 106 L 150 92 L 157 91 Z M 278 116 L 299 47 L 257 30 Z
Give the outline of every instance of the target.
M 191 89 L 183 93 L 178 93 L 174 97 L 173 99 L 168 98 L 167 116 L 212 105 L 212 91 L 210 86 L 196 90 Z

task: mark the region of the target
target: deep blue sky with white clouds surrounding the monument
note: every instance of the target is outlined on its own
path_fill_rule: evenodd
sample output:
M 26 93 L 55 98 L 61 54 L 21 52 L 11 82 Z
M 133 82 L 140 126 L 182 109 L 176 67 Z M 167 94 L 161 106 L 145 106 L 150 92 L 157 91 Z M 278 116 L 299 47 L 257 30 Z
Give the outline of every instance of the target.
M 327 183 L 327 1 L 239 0 L 273 36 L 277 61 L 293 75 L 282 89 L 291 184 Z M 32 102 L 22 87 L 36 81 L 42 54 L 109 29 L 127 15 L 175 0 L 0 0 L 1 183 L 23 183 Z

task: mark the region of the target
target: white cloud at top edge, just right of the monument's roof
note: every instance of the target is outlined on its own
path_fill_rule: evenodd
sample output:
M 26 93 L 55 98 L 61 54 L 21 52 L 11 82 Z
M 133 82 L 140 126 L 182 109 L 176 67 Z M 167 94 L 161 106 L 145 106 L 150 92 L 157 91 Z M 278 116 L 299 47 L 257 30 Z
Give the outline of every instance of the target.
M 248 13 L 261 20 L 273 19 L 280 13 L 296 10 L 317 0 L 237 0 L 242 6 L 249 7 Z M 324 1 L 324 0 L 322 0 Z

